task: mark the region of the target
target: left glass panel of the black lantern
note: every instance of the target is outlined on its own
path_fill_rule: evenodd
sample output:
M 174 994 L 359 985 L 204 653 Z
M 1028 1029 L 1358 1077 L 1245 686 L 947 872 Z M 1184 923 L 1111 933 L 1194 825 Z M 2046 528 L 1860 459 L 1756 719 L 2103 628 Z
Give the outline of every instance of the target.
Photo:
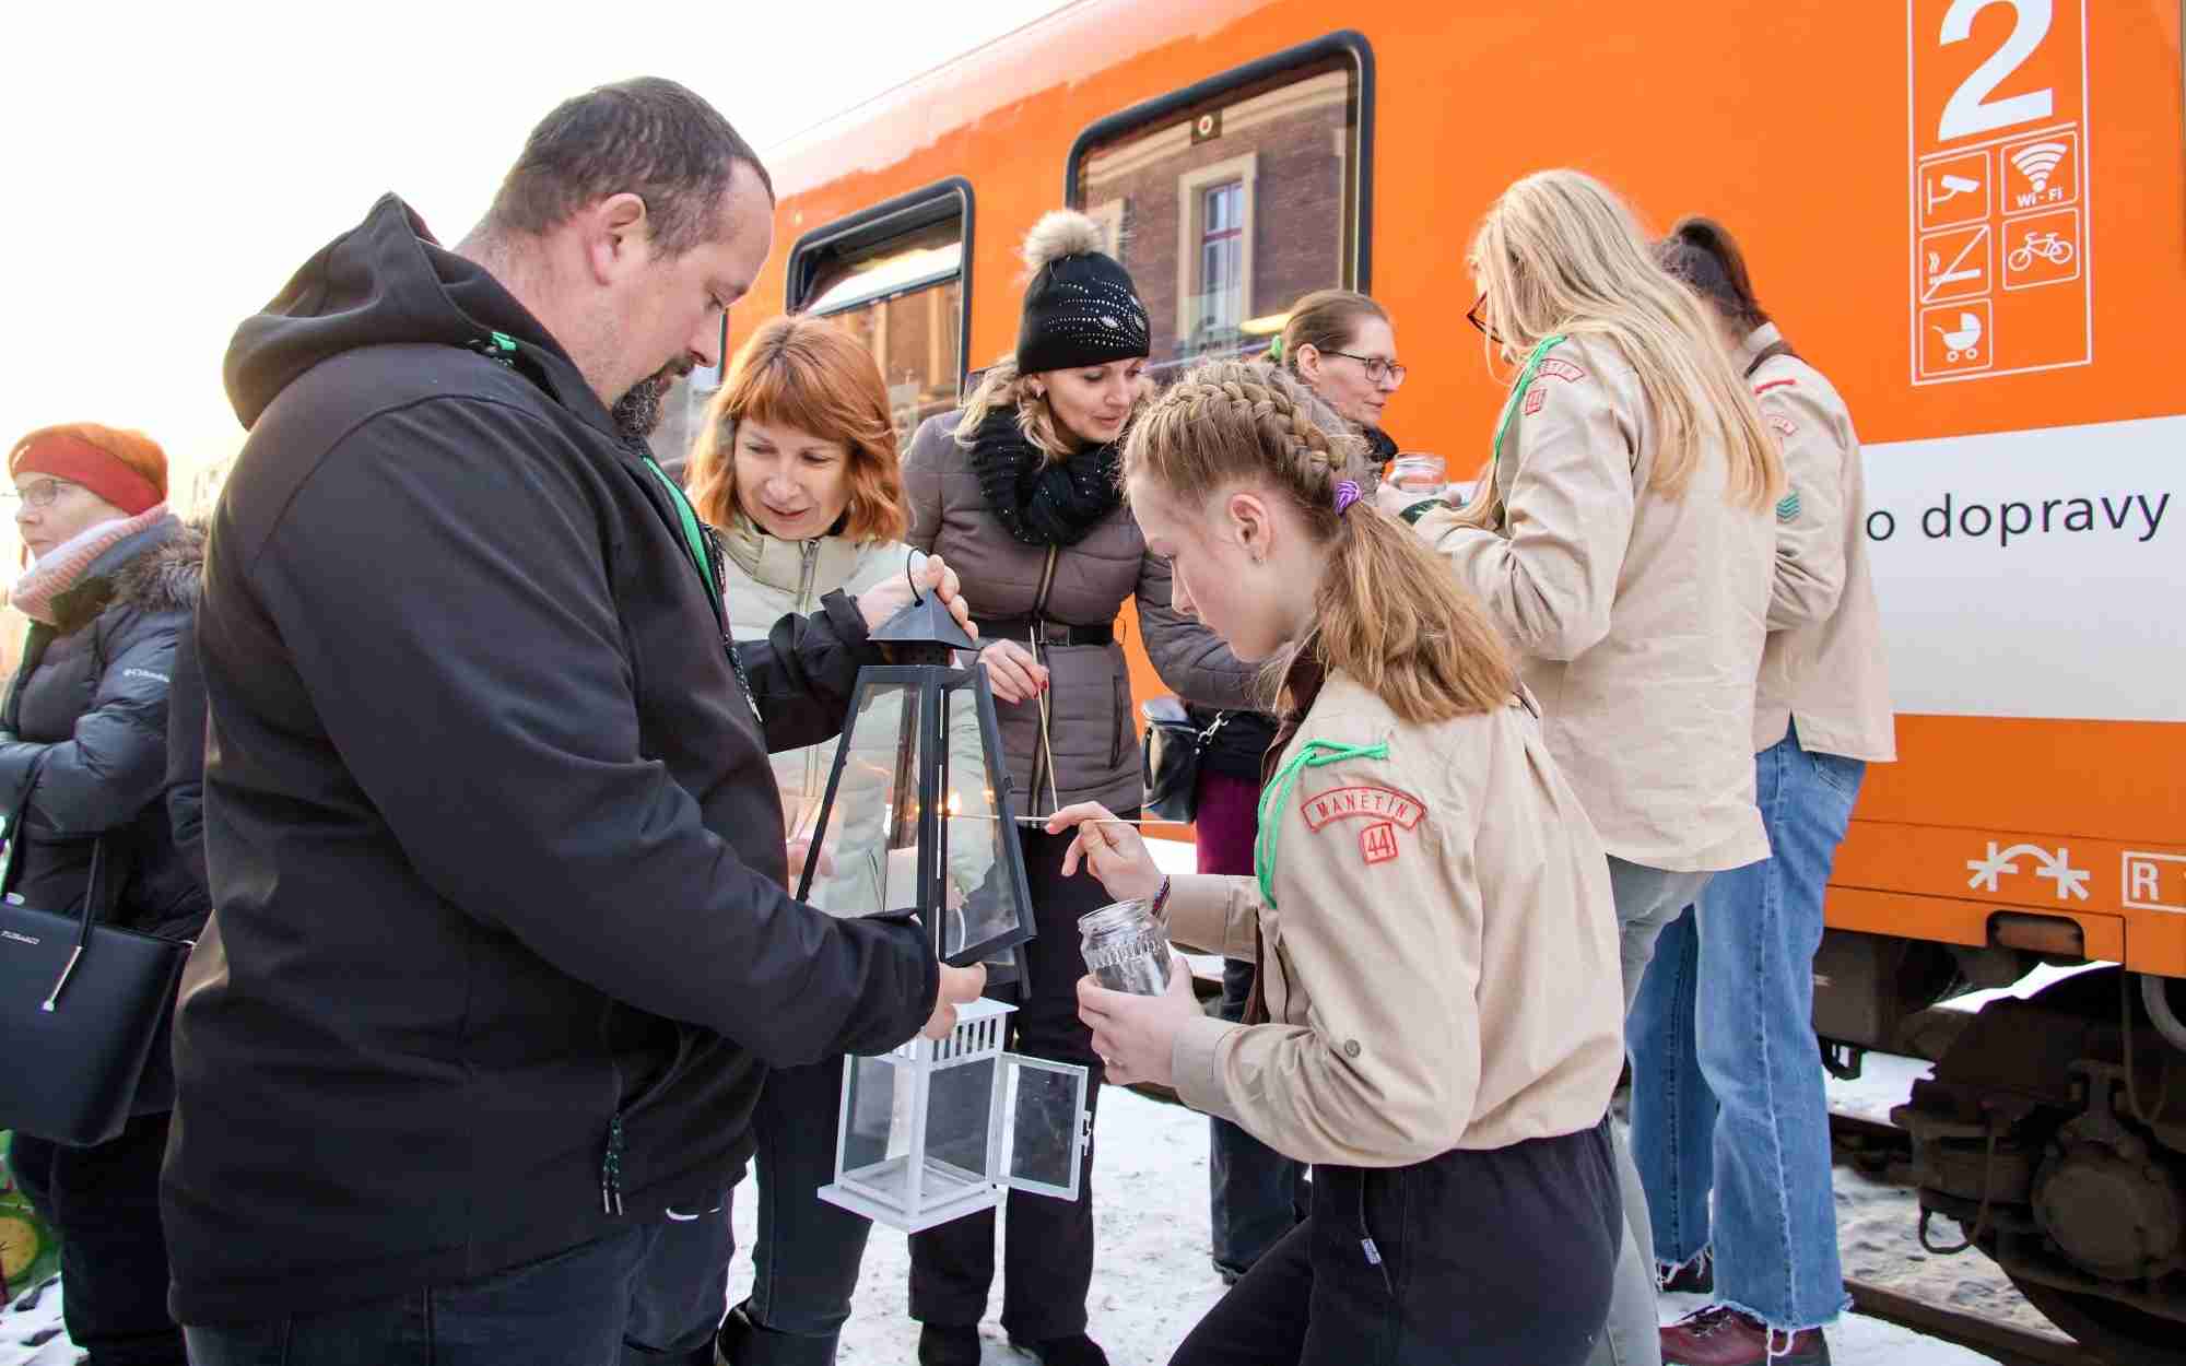
M 833 916 L 918 907 L 916 682 L 868 682 L 837 754 L 820 846 L 833 872 L 813 872 L 804 900 Z

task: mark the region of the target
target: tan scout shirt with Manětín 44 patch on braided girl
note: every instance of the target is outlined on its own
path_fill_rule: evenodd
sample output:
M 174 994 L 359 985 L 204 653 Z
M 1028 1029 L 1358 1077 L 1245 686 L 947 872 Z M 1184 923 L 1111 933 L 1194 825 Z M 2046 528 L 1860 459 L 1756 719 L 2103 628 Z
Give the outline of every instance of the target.
M 1331 675 L 1281 763 L 1329 754 L 1314 741 L 1388 756 L 1296 772 L 1268 815 L 1274 903 L 1250 876 L 1174 883 L 1180 944 L 1250 957 L 1257 918 L 1272 1021 L 1191 1021 L 1176 1091 L 1347 1167 L 1600 1123 L 1624 1058 L 1615 909 L 1539 721 L 1513 702 L 1408 726 Z

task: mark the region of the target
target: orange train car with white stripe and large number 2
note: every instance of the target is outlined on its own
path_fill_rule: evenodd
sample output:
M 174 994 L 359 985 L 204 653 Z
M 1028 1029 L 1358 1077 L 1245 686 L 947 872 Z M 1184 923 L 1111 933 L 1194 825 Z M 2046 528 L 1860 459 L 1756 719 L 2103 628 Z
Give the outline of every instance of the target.
M 1071 203 L 1137 278 L 1156 372 L 1259 350 L 1309 288 L 1371 291 L 1412 376 L 1392 435 L 1469 470 L 1502 385 L 1465 249 L 1511 179 L 1578 166 L 1657 225 L 1729 223 L 1865 439 L 1897 706 L 1817 1029 L 1838 1064 L 1939 1058 L 1900 1110 L 1926 1211 L 2083 1342 L 2186 1362 L 2179 7 L 1331 13 L 1084 0 L 776 149 L 730 348 L 835 315 L 909 431 L 1010 350 L 1014 247 Z M 1926 1010 L 2035 962 L 2114 966 L 1948 1029 Z

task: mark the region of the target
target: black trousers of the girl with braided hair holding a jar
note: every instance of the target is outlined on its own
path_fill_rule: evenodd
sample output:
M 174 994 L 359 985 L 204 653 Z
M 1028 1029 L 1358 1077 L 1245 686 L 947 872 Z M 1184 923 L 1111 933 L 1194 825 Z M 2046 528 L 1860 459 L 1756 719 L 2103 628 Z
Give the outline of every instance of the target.
M 1580 1366 L 1622 1230 L 1605 1126 L 1412 1167 L 1314 1167 L 1314 1213 L 1170 1366 Z

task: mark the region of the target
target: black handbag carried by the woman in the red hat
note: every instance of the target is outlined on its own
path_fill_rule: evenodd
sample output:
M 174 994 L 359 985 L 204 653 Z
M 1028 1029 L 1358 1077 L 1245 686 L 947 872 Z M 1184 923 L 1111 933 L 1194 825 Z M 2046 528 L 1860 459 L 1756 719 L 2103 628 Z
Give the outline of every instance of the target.
M 57 916 L 9 894 L 37 769 L 7 822 L 0 852 L 0 1128 L 90 1147 L 129 1123 L 131 1102 L 190 955 L 186 940 L 94 922 L 107 841 L 92 844 L 83 909 Z

